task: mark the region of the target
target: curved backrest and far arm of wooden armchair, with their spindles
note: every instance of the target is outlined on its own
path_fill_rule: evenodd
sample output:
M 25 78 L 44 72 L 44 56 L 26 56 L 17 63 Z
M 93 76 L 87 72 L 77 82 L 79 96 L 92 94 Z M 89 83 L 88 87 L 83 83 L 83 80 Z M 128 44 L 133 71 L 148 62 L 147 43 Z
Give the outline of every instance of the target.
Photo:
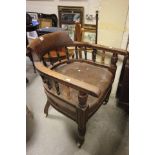
M 98 52 L 102 55 L 102 65 L 105 65 L 106 67 L 109 67 L 111 71 L 115 74 L 117 69 L 117 60 L 118 55 L 123 55 L 125 57 L 128 57 L 128 51 L 98 44 L 90 44 L 85 42 L 77 42 L 72 41 L 69 37 L 69 35 L 66 32 L 55 32 L 50 34 L 45 34 L 34 41 L 30 43 L 28 46 L 28 49 L 31 50 L 34 61 L 42 61 L 44 66 L 51 67 L 58 65 L 63 61 L 63 63 L 71 63 L 74 61 L 85 61 L 88 63 L 96 63 L 97 54 Z M 56 51 L 57 54 L 57 62 L 52 62 L 52 57 L 50 57 L 49 51 Z M 66 59 L 61 60 L 60 58 L 60 52 L 65 51 L 66 53 Z M 69 56 L 69 50 L 72 50 L 74 52 L 74 55 L 72 57 Z M 91 53 L 91 57 L 88 57 Z M 81 56 L 82 53 L 82 56 Z M 110 55 L 110 64 L 107 66 L 107 64 L 104 64 L 104 58 L 105 55 Z M 44 55 L 48 54 L 50 63 L 46 62 L 44 60 Z M 52 69 L 53 67 L 51 67 Z

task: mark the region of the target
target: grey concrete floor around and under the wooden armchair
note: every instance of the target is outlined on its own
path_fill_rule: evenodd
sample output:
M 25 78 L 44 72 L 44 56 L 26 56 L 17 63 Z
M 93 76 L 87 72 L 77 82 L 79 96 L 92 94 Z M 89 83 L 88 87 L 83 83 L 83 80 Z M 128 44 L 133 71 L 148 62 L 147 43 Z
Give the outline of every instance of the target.
M 85 143 L 76 146 L 77 125 L 52 107 L 46 118 L 46 96 L 42 81 L 27 60 L 27 155 L 128 155 L 128 114 L 116 106 L 113 95 L 87 123 Z

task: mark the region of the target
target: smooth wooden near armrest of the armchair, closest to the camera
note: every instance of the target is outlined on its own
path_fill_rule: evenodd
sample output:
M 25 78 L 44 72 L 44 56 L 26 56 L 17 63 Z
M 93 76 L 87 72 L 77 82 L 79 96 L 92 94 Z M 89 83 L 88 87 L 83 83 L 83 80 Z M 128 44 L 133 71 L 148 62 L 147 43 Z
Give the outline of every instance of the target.
M 65 84 L 69 87 L 75 88 L 79 91 L 88 93 L 89 95 L 92 95 L 94 97 L 99 97 L 101 93 L 98 87 L 91 85 L 89 83 L 71 78 L 69 76 L 60 74 L 56 71 L 50 70 L 49 68 L 45 67 L 41 62 L 34 62 L 34 64 L 35 64 L 36 69 L 40 73 L 45 74 L 47 77 L 52 78 L 55 81 Z

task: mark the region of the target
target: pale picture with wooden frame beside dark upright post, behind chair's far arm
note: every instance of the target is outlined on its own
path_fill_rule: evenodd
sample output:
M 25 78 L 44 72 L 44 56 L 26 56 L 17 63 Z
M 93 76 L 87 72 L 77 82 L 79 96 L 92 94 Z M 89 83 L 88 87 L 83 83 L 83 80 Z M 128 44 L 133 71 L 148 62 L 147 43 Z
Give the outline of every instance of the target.
M 82 41 L 95 44 L 95 42 L 96 42 L 96 25 L 85 24 L 83 26 Z

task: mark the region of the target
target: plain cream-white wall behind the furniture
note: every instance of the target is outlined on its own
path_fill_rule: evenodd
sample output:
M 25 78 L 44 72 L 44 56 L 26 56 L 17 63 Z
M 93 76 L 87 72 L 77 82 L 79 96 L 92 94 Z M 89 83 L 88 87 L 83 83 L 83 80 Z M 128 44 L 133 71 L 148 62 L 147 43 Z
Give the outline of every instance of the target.
M 128 33 L 128 25 L 126 26 L 128 0 L 26 1 L 26 10 L 58 15 L 58 5 L 83 6 L 84 17 L 86 14 L 95 16 L 96 10 L 99 10 L 98 43 L 121 47 L 123 34 Z M 95 21 L 89 22 L 84 19 L 84 23 L 95 23 Z

